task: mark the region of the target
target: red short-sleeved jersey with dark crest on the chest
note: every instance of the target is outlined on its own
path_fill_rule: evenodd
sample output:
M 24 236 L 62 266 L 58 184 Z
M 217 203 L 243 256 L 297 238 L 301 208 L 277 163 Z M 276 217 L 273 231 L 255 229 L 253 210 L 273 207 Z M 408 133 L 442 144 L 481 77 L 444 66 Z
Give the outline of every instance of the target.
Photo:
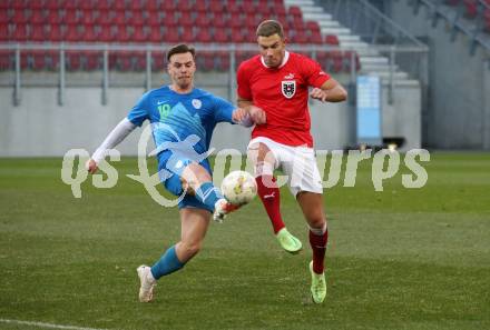
M 313 147 L 307 106 L 308 87 L 320 88 L 330 76 L 314 60 L 285 52 L 278 68 L 268 68 L 262 57 L 242 62 L 237 92 L 267 114 L 265 124 L 255 126 L 252 138 L 265 137 L 286 146 Z

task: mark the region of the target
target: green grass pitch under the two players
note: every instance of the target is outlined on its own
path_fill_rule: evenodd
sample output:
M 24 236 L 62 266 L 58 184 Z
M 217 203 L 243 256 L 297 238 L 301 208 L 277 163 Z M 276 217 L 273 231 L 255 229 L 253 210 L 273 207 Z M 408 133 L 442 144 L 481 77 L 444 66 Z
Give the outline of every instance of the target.
M 155 166 L 154 162 L 151 162 Z M 179 238 L 176 209 L 155 203 L 136 159 L 119 182 L 75 199 L 61 159 L 0 159 L 0 329 L 46 322 L 100 329 L 490 329 L 490 154 L 438 153 L 429 181 L 398 176 L 375 192 L 371 162 L 355 188 L 325 190 L 327 298 L 308 297 L 311 250 L 301 210 L 282 189 L 290 231 L 305 249 L 283 252 L 256 199 L 212 223 L 180 272 L 137 301 L 136 268 Z M 3 321 L 2 321 L 3 320 Z

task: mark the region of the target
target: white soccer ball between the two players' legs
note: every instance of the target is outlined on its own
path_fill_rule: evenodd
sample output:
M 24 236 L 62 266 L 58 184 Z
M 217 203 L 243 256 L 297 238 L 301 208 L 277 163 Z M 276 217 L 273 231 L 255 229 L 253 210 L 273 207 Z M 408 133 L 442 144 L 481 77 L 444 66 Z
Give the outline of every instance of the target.
M 251 202 L 257 194 L 257 183 L 251 173 L 233 171 L 223 179 L 222 192 L 232 204 L 243 206 Z

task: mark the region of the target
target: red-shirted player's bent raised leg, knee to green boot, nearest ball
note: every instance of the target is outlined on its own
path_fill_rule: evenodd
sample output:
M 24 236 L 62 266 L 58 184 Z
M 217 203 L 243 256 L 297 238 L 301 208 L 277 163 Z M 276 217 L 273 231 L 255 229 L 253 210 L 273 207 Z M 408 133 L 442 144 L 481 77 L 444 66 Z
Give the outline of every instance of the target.
M 281 216 L 281 191 L 274 177 L 276 162 L 274 154 L 264 143 L 252 143 L 247 153 L 248 159 L 254 164 L 257 194 L 271 219 L 277 241 L 287 252 L 298 252 L 302 249 L 302 243 L 287 231 Z

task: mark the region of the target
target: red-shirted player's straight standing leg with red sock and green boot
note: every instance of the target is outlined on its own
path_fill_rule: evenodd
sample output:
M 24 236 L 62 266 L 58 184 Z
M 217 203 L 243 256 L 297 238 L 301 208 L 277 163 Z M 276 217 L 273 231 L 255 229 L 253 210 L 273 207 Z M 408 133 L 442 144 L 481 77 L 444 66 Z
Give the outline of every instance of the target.
M 329 240 L 323 197 L 321 193 L 302 191 L 296 196 L 296 199 L 310 226 L 310 244 L 313 251 L 313 260 L 310 263 L 312 274 L 311 293 L 313 301 L 321 303 L 326 296 L 324 260 Z

